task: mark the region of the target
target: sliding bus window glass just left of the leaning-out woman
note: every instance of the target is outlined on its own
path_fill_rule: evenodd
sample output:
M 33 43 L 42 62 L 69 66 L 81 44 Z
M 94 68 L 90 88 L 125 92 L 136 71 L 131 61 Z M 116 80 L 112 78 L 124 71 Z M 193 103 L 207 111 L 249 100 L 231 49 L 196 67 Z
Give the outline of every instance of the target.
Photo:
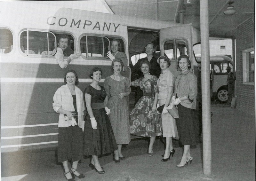
M 26 30 L 20 34 L 20 49 L 27 55 L 53 55 L 54 45 L 56 37 L 52 32 Z

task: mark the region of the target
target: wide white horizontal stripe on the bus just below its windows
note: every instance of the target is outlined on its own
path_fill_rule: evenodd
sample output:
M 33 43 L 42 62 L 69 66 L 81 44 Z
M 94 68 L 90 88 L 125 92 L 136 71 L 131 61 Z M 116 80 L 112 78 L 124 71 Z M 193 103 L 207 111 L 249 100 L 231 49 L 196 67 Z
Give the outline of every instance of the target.
M 0 78 L 1 83 L 36 83 L 36 82 L 63 82 L 63 78 Z M 92 79 L 78 79 L 79 82 L 92 82 Z M 105 79 L 101 79 L 100 82 L 104 82 Z

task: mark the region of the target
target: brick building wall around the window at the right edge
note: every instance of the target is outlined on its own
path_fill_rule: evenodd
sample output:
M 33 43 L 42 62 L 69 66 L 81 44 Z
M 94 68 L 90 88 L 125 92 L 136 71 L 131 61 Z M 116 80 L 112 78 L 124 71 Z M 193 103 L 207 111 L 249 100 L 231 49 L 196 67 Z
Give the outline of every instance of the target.
M 243 51 L 255 47 L 254 31 L 254 19 L 236 28 L 236 108 L 252 115 L 255 114 L 255 82 L 253 85 L 243 83 Z

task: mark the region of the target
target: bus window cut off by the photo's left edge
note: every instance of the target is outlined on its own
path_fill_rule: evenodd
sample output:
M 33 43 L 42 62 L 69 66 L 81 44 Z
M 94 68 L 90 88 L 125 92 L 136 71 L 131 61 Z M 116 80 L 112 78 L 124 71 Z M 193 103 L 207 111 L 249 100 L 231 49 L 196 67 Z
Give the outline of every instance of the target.
M 12 48 L 12 32 L 9 29 L 0 28 L 0 53 L 9 53 L 12 51 Z

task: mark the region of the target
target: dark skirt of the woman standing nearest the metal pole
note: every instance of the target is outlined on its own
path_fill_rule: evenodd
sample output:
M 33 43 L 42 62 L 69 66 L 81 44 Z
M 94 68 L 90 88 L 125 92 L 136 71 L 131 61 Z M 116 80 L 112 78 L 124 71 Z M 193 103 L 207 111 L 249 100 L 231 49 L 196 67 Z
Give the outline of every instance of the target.
M 182 145 L 197 145 L 199 143 L 199 120 L 195 109 L 177 105 L 179 118 L 176 119 L 179 139 Z

